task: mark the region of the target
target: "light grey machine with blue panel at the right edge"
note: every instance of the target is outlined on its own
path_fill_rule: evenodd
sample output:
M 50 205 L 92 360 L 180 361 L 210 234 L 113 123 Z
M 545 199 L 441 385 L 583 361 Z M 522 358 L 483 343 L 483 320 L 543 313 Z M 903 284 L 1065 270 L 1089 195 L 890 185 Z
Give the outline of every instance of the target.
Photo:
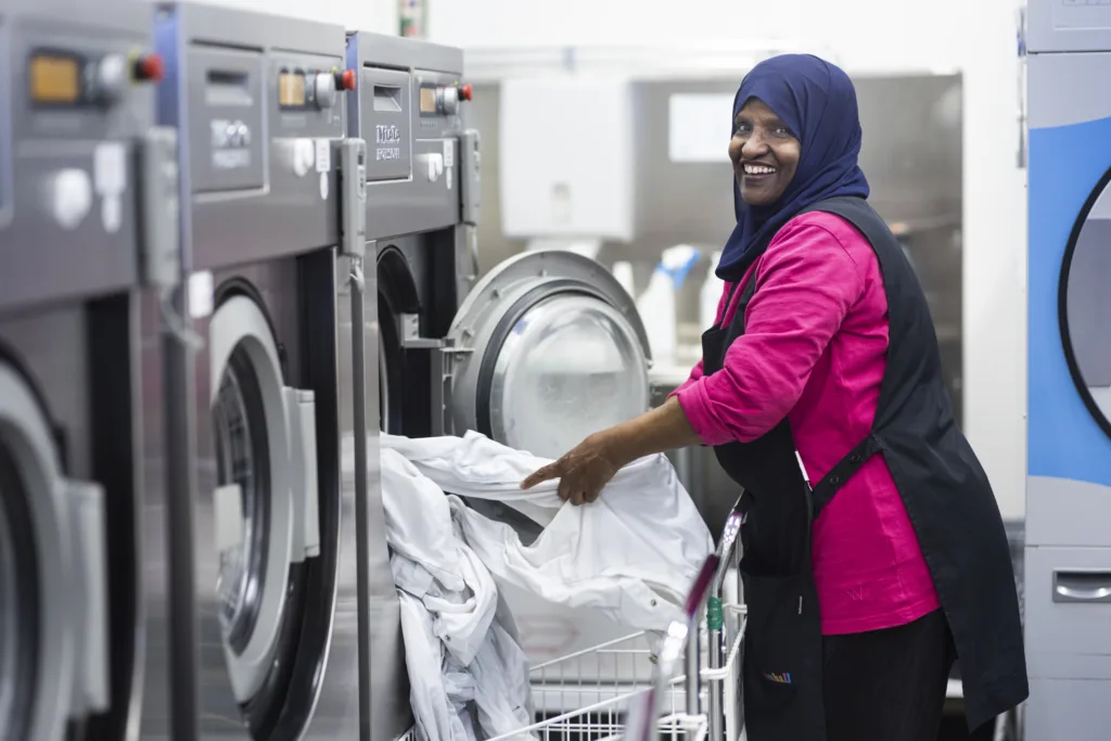
M 1111 4 L 1031 0 L 1028 741 L 1107 739 L 1111 698 Z

